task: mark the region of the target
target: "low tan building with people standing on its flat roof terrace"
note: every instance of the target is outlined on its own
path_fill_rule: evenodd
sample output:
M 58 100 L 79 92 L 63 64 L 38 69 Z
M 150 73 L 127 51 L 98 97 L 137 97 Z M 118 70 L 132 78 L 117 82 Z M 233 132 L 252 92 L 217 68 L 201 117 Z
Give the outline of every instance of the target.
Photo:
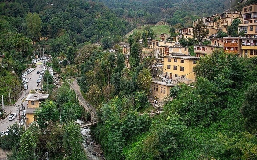
M 166 84 L 166 82 L 153 81 L 152 82 L 152 95 L 159 99 L 163 99 L 170 95 L 170 88 L 175 85 Z

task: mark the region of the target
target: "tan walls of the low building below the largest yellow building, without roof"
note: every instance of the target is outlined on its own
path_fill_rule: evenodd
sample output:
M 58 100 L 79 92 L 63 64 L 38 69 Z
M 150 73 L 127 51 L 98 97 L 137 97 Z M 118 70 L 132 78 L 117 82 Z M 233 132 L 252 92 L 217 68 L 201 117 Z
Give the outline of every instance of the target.
M 161 93 L 162 92 L 162 93 Z M 165 92 L 165 94 L 164 94 Z M 170 95 L 170 86 L 161 85 L 157 83 L 152 83 L 152 95 L 156 96 L 159 99 L 163 99 L 166 96 Z

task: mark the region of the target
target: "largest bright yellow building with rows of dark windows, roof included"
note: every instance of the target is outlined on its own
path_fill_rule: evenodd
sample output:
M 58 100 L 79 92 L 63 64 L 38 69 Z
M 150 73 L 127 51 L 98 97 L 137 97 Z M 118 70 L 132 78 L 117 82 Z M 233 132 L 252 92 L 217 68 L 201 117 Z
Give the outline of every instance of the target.
M 200 57 L 164 56 L 163 72 L 173 82 L 190 84 L 195 81 L 193 67 Z

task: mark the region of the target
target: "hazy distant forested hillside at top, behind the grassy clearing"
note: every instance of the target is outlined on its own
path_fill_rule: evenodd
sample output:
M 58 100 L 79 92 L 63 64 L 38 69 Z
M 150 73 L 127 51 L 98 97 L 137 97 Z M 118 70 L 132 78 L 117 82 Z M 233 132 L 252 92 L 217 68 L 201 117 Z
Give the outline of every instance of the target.
M 161 20 L 184 27 L 200 17 L 222 13 L 238 1 L 229 0 L 102 0 L 120 18 L 136 24 L 155 24 Z

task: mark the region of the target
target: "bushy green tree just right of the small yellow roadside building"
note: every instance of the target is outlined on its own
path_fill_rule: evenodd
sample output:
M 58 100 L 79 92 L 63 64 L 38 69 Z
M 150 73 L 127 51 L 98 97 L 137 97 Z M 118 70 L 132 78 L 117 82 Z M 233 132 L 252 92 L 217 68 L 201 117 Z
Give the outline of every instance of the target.
M 47 126 L 51 123 L 55 123 L 59 119 L 59 112 L 56 104 L 53 101 L 46 100 L 43 102 L 39 109 L 35 111 L 37 123 L 40 128 L 47 131 Z

